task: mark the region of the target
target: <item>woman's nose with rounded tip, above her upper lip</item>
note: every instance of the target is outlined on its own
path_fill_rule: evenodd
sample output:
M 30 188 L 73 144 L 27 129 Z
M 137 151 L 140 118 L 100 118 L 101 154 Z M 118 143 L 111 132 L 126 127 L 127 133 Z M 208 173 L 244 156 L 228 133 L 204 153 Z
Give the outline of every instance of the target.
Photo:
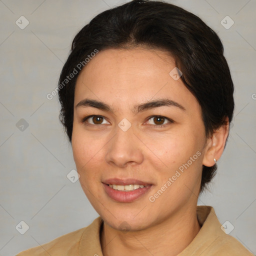
M 133 134 L 132 126 L 126 131 L 117 127 L 115 135 L 107 146 L 105 160 L 111 165 L 125 167 L 129 164 L 140 164 L 143 161 L 142 146 Z

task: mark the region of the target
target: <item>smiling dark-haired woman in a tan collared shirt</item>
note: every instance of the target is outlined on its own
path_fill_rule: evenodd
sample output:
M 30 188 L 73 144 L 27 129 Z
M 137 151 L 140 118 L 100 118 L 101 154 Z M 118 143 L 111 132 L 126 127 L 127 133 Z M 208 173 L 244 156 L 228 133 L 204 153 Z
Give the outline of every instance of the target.
M 60 119 L 100 215 L 22 255 L 252 255 L 199 193 L 233 115 L 220 39 L 172 4 L 133 0 L 75 36 L 59 78 Z

